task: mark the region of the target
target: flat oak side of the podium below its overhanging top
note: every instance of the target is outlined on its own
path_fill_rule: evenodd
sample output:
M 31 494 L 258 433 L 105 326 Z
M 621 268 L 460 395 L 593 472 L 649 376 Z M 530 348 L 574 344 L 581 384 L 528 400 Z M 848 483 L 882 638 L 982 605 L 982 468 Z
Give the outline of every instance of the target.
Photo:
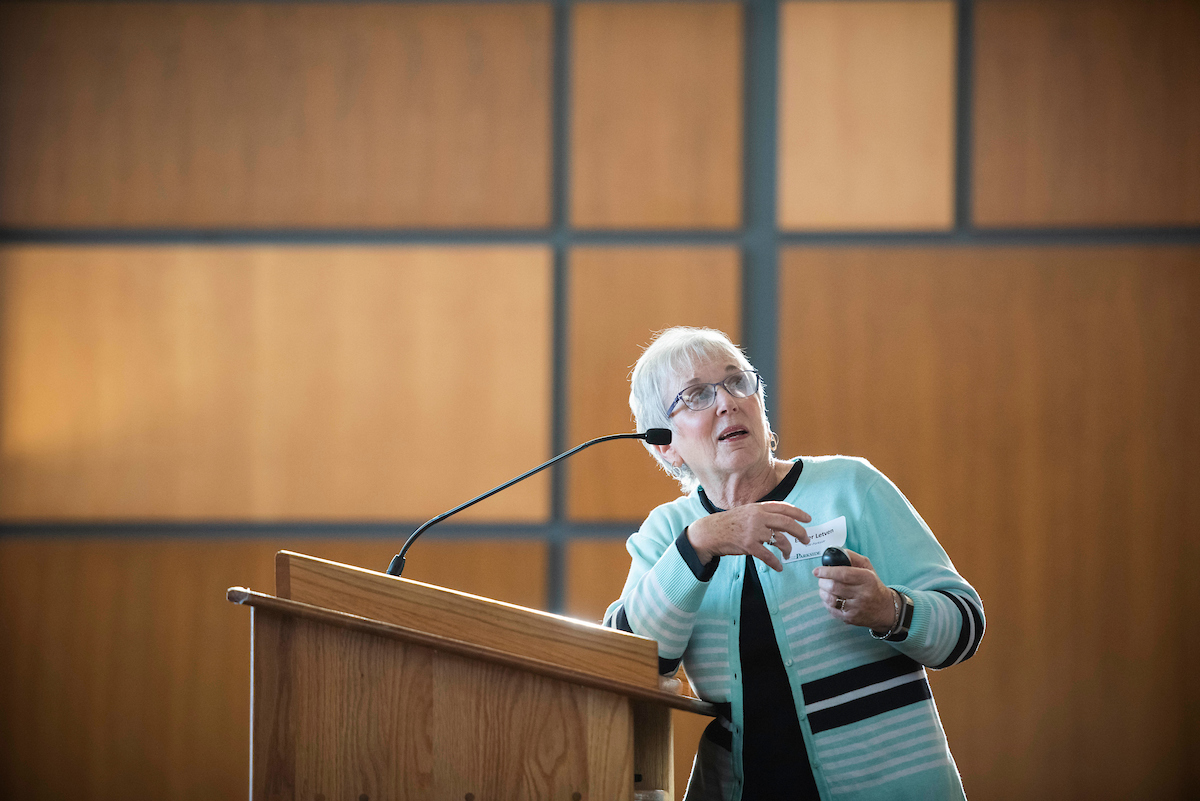
M 251 797 L 630 799 L 617 694 L 254 609 Z

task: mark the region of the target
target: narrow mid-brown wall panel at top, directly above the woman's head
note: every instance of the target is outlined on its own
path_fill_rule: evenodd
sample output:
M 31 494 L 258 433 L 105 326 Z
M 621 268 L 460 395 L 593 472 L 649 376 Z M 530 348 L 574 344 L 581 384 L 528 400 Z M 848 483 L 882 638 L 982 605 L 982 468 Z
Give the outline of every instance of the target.
M 582 2 L 571 12 L 571 221 L 742 219 L 742 8 Z

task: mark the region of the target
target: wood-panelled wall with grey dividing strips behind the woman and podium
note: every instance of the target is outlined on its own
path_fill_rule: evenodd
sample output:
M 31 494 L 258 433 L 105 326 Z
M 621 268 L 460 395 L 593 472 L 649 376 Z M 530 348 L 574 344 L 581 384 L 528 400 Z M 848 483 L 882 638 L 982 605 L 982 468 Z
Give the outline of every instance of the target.
M 1195 2 L 5 4 L 0 796 L 242 797 L 224 589 L 382 570 L 629 429 L 692 324 L 983 595 L 932 676 L 970 797 L 1194 797 L 1198 42 Z M 407 574 L 598 619 L 673 494 L 594 448 Z

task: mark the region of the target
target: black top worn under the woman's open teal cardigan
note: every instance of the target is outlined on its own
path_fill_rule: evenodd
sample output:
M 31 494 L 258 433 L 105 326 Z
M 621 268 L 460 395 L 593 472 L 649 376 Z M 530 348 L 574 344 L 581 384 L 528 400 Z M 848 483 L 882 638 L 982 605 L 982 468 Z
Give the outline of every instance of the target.
M 773 490 L 760 499 L 762 501 L 784 500 L 796 487 L 804 463 L 796 460 L 794 466 L 784 476 Z M 700 501 L 710 513 L 724 512 L 718 508 L 700 489 Z M 700 559 L 688 542 L 686 532 L 680 537 L 679 550 L 691 552 L 689 565 L 696 577 L 701 573 L 695 568 Z M 686 559 L 688 554 L 684 553 Z M 714 558 L 702 567 L 707 580 L 716 571 Z M 745 580 L 742 583 L 742 631 L 738 638 L 738 651 L 742 662 L 742 773 L 744 801 L 762 801 L 769 799 L 787 799 L 788 801 L 820 801 L 816 779 L 812 777 L 812 765 L 809 763 L 808 749 L 804 747 L 804 733 L 796 715 L 792 701 L 792 686 L 787 679 L 787 668 L 779 654 L 775 631 L 767 609 L 767 598 L 758 582 L 758 571 L 752 556 L 745 558 Z M 739 676 L 734 675 L 734 680 Z M 714 742 L 730 747 L 731 736 L 719 724 L 706 730 Z

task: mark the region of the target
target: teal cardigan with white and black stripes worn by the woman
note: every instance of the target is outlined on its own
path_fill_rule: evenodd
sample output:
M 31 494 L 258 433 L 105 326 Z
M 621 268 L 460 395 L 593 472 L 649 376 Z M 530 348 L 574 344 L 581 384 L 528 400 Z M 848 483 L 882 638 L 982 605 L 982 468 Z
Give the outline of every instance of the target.
M 979 595 L 954 570 L 912 505 L 865 459 L 809 458 L 793 504 L 822 523 L 845 516 L 846 547 L 866 555 L 884 584 L 912 597 L 907 639 L 872 639 L 821 604 L 818 559 L 776 573 L 754 560 L 787 668 L 791 703 L 822 799 L 964 799 L 925 668 L 970 658 L 984 631 Z M 605 615 L 659 644 L 660 663 L 682 657 L 701 698 L 728 705 L 732 749 L 703 742 L 689 795 L 742 797 L 742 686 L 738 652 L 744 556 L 721 559 L 706 582 L 676 538 L 708 512 L 698 493 L 655 508 L 629 538 L 620 600 Z M 781 703 L 784 699 L 781 699 Z

